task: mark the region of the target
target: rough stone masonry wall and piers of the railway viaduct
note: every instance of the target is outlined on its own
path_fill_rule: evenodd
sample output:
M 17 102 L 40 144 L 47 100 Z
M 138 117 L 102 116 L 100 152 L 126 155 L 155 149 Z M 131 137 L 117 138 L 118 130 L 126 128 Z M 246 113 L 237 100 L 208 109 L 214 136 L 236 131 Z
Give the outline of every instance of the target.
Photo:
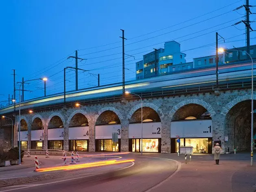
M 196 116 L 200 118 L 204 112 L 208 112 L 213 121 L 213 142 L 215 140 L 221 141 L 221 147 L 226 150 L 226 147 L 230 148 L 230 151 L 234 150 L 234 147 L 239 146 L 239 149 L 247 149 L 248 144 L 246 139 L 248 138 L 249 128 L 247 132 L 243 133 L 243 127 L 248 127 L 250 120 L 245 115 L 250 112 L 250 99 L 251 93 L 249 89 L 235 90 L 220 92 L 219 96 L 211 93 L 199 93 L 193 95 L 180 95 L 175 97 L 158 97 L 143 99 L 143 107 L 145 111 L 144 118 L 149 118 L 150 111 L 156 112 L 158 116 L 151 116 L 154 119 L 161 121 L 162 125 L 162 153 L 171 152 L 171 121 L 181 120 L 187 116 Z M 256 93 L 254 96 L 256 99 Z M 239 104 L 244 102 L 244 104 Z M 72 126 L 74 122 L 81 124 L 88 121 L 89 125 L 89 151 L 95 151 L 95 125 L 104 124 L 109 121 L 116 121 L 121 124 L 121 151 L 128 151 L 128 127 L 129 123 L 139 121 L 141 108 L 141 100 L 125 100 L 119 102 L 106 102 L 100 104 L 90 104 L 81 108 L 63 108 L 59 110 L 43 110 L 36 111 L 32 116 L 30 114 L 22 114 L 22 118 L 32 123 L 32 127 L 35 127 L 35 116 L 39 117 L 42 121 L 44 129 L 44 149 L 47 149 L 47 130 L 52 126 L 59 127 L 64 126 L 64 148 L 68 148 L 68 127 Z M 243 110 L 240 110 L 243 108 Z M 148 109 L 148 110 L 147 110 Z M 77 113 L 81 115 L 74 117 Z M 57 116 L 57 117 L 54 117 Z M 53 118 L 53 119 L 52 119 Z M 18 122 L 18 116 L 15 117 Z M 72 122 L 72 121 L 73 122 Z M 62 124 L 60 123 L 62 122 Z M 71 124 L 70 124 L 71 123 Z M 74 124 L 74 125 L 78 125 Z M 235 128 L 234 128 L 235 125 Z M 40 125 L 37 124 L 37 127 Z M 14 143 L 17 145 L 17 127 L 18 123 L 15 123 Z M 34 129 L 34 128 L 33 128 Z M 238 136 L 238 135 L 241 136 Z M 228 136 L 228 141 L 224 140 L 224 137 Z M 234 144 L 235 142 L 235 144 Z

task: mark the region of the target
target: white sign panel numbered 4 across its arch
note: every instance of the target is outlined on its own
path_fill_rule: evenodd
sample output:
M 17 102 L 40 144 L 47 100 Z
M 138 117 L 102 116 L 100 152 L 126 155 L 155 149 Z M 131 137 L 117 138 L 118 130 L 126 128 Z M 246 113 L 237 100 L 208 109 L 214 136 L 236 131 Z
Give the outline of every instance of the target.
M 68 128 L 69 140 L 73 139 L 89 139 L 89 126 L 85 127 L 69 127 Z

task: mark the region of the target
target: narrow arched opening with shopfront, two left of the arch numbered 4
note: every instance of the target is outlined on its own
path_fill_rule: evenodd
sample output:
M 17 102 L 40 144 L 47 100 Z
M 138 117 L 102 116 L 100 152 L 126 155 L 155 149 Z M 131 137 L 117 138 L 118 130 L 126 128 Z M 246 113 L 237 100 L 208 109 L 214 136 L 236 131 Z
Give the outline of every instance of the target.
M 43 149 L 43 122 L 39 117 L 32 122 L 31 149 Z

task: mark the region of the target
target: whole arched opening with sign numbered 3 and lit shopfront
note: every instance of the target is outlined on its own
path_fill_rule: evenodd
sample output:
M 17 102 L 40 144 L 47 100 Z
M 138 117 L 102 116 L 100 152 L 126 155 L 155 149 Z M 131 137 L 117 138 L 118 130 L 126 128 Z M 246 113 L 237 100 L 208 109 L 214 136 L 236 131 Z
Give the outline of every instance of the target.
M 117 140 L 113 142 L 112 134 L 117 133 Z M 96 151 L 121 150 L 121 122 L 117 114 L 111 110 L 102 112 L 95 126 Z

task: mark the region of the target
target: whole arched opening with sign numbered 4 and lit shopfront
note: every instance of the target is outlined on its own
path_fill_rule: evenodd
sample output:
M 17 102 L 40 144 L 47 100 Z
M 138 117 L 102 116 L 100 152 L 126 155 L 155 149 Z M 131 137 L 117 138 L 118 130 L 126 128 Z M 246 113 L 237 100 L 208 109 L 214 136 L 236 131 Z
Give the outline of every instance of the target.
M 69 122 L 69 151 L 88 151 L 89 126 L 84 114 L 75 114 Z

